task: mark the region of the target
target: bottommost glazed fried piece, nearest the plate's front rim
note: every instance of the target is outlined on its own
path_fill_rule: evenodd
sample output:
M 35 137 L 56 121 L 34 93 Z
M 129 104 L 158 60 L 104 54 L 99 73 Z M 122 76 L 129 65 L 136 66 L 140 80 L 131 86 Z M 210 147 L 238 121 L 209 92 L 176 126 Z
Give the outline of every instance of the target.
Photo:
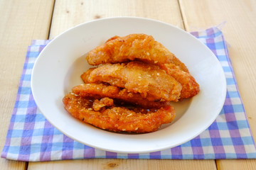
M 93 101 L 75 94 L 63 98 L 64 108 L 73 117 L 98 128 L 113 132 L 154 132 L 164 123 L 171 123 L 175 118 L 174 108 L 165 106 L 154 110 L 124 107 L 101 108 L 95 111 Z

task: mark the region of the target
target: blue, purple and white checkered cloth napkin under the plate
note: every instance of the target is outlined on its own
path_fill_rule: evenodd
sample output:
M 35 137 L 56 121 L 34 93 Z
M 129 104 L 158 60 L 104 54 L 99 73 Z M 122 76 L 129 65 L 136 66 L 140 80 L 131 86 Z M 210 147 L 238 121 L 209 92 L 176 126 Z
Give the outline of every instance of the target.
M 1 157 L 19 161 L 61 159 L 253 159 L 256 158 L 245 110 L 238 93 L 233 68 L 222 32 L 217 28 L 193 32 L 218 57 L 228 84 L 225 104 L 210 127 L 193 140 L 178 147 L 146 154 L 119 154 L 82 145 L 50 125 L 36 106 L 31 94 L 31 70 L 49 40 L 33 40 L 26 62 L 11 123 Z

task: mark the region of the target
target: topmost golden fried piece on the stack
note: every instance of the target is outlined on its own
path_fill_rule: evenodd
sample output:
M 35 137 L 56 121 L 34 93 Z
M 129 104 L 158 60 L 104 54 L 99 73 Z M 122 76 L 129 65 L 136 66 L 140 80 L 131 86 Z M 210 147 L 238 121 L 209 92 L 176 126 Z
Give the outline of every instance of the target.
M 130 34 L 125 37 L 114 36 L 105 44 L 88 52 L 87 62 L 92 65 L 140 60 L 150 64 L 175 64 L 177 69 L 188 72 L 183 62 L 151 35 Z

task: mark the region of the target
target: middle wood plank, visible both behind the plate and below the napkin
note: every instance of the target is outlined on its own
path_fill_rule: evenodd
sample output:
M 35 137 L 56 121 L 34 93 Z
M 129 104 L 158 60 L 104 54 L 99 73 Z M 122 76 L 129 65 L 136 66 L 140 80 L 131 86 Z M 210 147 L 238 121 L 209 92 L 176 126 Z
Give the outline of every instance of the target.
M 161 11 L 161 12 L 159 12 Z M 112 16 L 138 16 L 153 18 L 183 28 L 178 1 L 169 0 L 87 0 L 87 1 L 55 1 L 53 22 L 50 28 L 50 39 L 64 30 L 86 21 Z M 108 163 L 110 162 L 110 163 Z M 111 163 L 112 162 L 112 163 Z M 117 163 L 116 163 L 117 162 Z M 87 159 L 61 162 L 30 162 L 28 169 L 103 169 L 110 164 L 111 169 L 216 169 L 215 161 L 179 161 L 179 160 L 134 160 L 134 159 Z M 116 166 L 118 164 L 118 167 Z M 68 168 L 67 168 L 68 169 Z M 106 168 L 107 169 L 107 168 Z M 108 167 L 110 169 L 110 167 Z M 193 168 L 192 168 L 193 169 Z

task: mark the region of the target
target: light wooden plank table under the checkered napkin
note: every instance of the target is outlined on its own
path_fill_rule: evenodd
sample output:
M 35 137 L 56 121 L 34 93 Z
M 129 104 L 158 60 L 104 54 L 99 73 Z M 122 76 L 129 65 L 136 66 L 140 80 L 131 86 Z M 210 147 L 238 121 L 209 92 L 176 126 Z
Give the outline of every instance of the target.
M 256 141 L 256 1 L 239 0 L 0 0 L 0 149 L 4 147 L 26 50 L 33 39 L 52 39 L 64 30 L 97 18 L 139 16 L 187 31 L 216 26 L 223 33 Z M 83 159 L 15 162 L 0 159 L 0 169 L 255 169 L 247 160 Z

